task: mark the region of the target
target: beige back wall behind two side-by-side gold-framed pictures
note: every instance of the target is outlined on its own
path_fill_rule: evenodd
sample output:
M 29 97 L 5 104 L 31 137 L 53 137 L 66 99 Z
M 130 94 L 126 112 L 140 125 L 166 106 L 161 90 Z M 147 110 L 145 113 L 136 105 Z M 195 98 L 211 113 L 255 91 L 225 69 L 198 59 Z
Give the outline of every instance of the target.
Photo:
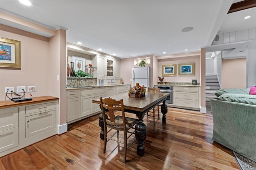
M 178 64 L 181 63 L 195 63 L 195 75 L 178 75 Z M 169 59 L 158 60 L 158 76 L 162 76 L 162 65 L 176 64 L 176 76 L 164 76 L 164 82 L 182 82 L 182 83 L 192 83 L 192 79 L 197 79 L 200 83 L 200 56 L 189 56 L 189 57 L 177 57 Z M 158 78 L 157 78 L 158 80 Z M 158 80 L 158 82 L 160 82 Z

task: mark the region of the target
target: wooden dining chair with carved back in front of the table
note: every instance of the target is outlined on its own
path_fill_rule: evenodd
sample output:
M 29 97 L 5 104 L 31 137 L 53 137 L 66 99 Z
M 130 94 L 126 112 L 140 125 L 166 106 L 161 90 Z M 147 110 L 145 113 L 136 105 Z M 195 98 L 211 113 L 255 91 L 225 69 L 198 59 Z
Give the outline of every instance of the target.
M 103 116 L 103 123 L 104 123 L 104 148 L 103 153 L 106 152 L 106 145 L 108 140 L 114 140 L 116 142 L 120 142 L 124 144 L 124 161 L 126 161 L 126 150 L 127 150 L 127 139 L 132 136 L 132 134 L 135 134 L 135 128 L 134 125 L 138 123 L 138 119 L 133 119 L 129 117 L 125 117 L 124 113 L 124 103 L 123 99 L 115 100 L 111 98 L 102 99 L 100 97 L 100 107 L 102 110 L 102 116 Z M 121 111 L 122 116 L 115 116 L 114 113 L 116 111 Z M 108 130 L 108 128 L 110 128 Z M 114 134 L 112 134 L 110 137 L 108 137 L 108 132 L 110 130 L 116 130 Z M 130 129 L 133 129 L 132 132 L 128 131 Z M 124 132 L 124 142 L 117 140 L 119 137 L 119 131 Z M 117 139 L 112 138 L 117 133 Z M 127 137 L 127 133 L 130 133 L 130 135 Z

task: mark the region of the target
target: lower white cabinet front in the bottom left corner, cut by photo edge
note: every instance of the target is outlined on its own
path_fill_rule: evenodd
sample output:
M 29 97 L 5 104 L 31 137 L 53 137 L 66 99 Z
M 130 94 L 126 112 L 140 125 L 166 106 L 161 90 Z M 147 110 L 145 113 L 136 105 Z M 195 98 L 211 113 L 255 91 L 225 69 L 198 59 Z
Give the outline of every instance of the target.
M 19 128 L 11 128 L 0 132 L 0 152 L 19 145 Z

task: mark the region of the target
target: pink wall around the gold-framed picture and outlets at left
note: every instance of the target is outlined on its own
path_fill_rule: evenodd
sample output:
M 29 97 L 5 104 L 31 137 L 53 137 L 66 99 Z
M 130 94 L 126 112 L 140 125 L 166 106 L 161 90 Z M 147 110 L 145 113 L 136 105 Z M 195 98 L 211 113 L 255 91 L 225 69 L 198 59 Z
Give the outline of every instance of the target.
M 1 25 L 0 36 L 21 42 L 21 69 L 0 69 L 0 101 L 5 100 L 4 87 L 15 87 L 16 91 L 16 86 L 35 85 L 36 92 L 31 93 L 32 97 L 49 95 L 51 58 L 48 38 L 4 25 Z

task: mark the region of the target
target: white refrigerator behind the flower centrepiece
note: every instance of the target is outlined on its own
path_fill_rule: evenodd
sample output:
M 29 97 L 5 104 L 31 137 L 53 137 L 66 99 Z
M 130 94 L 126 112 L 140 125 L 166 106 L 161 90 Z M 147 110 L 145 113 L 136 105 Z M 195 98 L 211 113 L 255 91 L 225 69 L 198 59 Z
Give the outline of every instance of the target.
M 136 83 L 150 87 L 150 67 L 132 68 L 132 85 L 135 86 Z

